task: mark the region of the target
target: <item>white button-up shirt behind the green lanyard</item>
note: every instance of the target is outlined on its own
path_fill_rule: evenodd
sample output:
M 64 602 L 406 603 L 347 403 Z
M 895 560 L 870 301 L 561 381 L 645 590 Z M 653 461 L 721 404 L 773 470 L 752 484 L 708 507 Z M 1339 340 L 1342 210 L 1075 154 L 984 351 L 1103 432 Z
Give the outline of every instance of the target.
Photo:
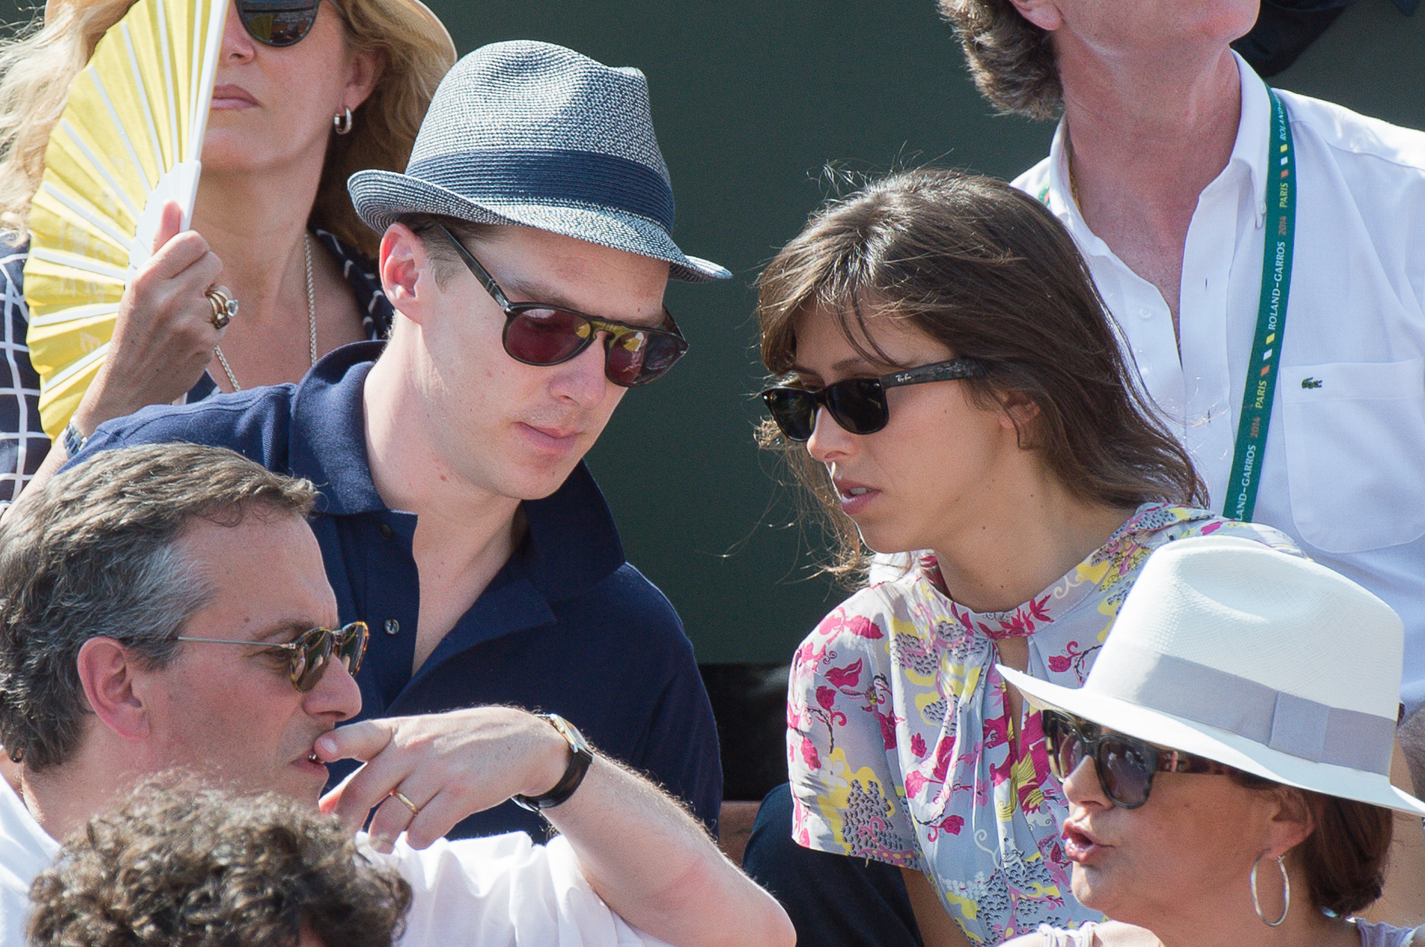
M 1083 222 L 1064 130 L 1015 185 L 1069 228 L 1171 430 L 1221 511 L 1261 293 L 1271 104 L 1238 57 L 1231 159 L 1183 253 L 1181 357 L 1157 288 Z M 1401 698 L 1425 702 L 1425 132 L 1278 93 L 1291 121 L 1291 295 L 1254 520 L 1405 621 Z M 1347 642 L 1342 642 L 1347 644 Z

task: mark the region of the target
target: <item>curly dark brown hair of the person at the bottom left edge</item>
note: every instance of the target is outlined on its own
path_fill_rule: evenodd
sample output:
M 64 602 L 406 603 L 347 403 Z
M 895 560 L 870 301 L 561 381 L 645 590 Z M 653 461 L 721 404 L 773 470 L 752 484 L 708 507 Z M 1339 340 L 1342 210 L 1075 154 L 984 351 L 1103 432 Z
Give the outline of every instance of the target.
M 34 947 L 390 947 L 410 886 L 335 816 L 274 793 L 150 782 L 30 890 Z

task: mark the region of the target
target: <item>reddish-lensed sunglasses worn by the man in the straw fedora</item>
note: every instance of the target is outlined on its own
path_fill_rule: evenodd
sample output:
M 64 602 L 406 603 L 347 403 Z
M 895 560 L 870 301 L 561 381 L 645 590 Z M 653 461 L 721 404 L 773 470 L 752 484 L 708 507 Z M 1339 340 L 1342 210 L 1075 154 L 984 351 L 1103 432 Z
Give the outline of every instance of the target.
M 600 319 L 543 302 L 510 302 L 494 282 L 494 276 L 490 276 L 465 244 L 445 225 L 437 226 L 504 313 L 500 343 L 506 355 L 516 362 L 539 366 L 561 365 L 593 345 L 600 332 L 607 332 L 604 377 L 621 387 L 637 387 L 661 376 L 687 353 L 688 342 L 678 332 L 667 306 L 663 308 L 663 326 L 653 329 Z

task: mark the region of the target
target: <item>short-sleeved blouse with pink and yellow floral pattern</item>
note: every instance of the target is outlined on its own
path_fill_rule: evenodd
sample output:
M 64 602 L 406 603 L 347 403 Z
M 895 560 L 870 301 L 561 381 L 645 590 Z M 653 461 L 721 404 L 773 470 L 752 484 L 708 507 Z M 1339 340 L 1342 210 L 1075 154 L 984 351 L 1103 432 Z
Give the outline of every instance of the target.
M 1300 555 L 1271 527 L 1144 504 L 1012 612 L 953 602 L 933 557 L 848 598 L 792 659 L 795 840 L 925 872 L 976 944 L 1102 920 L 1070 893 L 1059 837 L 1067 803 L 1027 705 L 1016 752 L 996 641 L 1027 638 L 1029 674 L 1077 688 L 1149 554 L 1217 531 Z

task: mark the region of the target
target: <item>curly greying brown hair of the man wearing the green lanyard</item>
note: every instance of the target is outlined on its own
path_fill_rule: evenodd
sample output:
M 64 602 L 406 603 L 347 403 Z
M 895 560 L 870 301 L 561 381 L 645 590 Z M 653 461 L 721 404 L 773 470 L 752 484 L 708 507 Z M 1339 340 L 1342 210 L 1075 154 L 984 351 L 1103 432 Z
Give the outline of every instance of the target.
M 939 0 L 939 9 L 965 47 L 975 85 L 995 108 L 1039 120 L 1059 115 L 1063 85 L 1050 33 L 1010 0 Z

